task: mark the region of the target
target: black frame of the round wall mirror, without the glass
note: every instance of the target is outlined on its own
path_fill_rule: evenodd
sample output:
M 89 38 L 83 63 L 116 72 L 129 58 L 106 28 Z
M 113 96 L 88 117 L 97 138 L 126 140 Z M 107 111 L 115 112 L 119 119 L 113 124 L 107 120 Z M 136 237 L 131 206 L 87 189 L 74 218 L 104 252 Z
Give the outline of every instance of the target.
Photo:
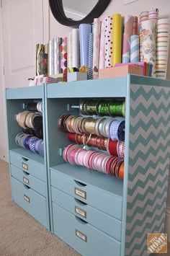
M 49 4 L 53 16 L 59 23 L 65 26 L 76 27 L 81 23 L 92 23 L 94 21 L 94 18 L 98 18 L 104 12 L 110 1 L 111 0 L 98 0 L 97 4 L 94 6 L 91 12 L 89 12 L 89 14 L 84 17 L 84 19 L 77 21 L 66 17 L 66 14 L 63 10 L 62 0 L 49 0 Z

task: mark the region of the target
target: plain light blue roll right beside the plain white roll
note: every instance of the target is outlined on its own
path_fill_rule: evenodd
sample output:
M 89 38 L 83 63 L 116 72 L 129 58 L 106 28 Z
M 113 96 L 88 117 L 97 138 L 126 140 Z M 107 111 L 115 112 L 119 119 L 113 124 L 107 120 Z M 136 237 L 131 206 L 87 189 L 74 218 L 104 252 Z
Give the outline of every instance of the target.
M 81 66 L 87 66 L 88 39 L 91 32 L 91 24 L 79 25 Z

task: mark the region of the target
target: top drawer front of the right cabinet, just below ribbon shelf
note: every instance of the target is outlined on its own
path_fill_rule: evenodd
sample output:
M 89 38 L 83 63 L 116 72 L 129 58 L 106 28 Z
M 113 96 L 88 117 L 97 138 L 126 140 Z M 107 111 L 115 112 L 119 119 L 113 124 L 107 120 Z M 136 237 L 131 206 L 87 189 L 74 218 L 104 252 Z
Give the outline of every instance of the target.
M 82 185 L 50 169 L 51 185 L 94 208 L 122 220 L 122 199 L 91 185 Z

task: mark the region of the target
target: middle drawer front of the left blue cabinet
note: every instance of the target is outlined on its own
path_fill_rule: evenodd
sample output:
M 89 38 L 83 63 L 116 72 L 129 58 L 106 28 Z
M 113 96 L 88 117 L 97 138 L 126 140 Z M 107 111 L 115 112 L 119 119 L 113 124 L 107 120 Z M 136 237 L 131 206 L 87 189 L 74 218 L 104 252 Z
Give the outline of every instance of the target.
M 31 187 L 32 190 L 37 191 L 37 193 L 40 193 L 41 195 L 46 197 L 45 182 L 42 182 L 42 180 L 37 179 L 36 177 L 30 175 L 27 172 L 22 171 L 22 169 L 19 169 L 12 164 L 11 172 L 12 176 L 15 177 L 17 180 Z

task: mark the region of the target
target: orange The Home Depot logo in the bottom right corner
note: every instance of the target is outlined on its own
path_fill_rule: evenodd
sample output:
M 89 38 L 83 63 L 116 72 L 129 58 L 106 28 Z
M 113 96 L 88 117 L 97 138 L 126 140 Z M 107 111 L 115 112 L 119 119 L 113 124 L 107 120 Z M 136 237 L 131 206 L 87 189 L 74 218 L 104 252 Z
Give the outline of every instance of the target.
M 148 253 L 167 253 L 167 234 L 148 234 Z

